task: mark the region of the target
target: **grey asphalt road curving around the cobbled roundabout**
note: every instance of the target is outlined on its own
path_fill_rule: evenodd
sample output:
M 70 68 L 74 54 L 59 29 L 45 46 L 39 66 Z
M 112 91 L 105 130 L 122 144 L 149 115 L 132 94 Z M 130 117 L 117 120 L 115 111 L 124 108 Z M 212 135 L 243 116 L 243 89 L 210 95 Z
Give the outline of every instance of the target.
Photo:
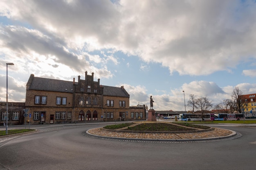
M 201 142 L 127 142 L 85 131 L 104 124 L 70 126 L 0 143 L 0 170 L 254 170 L 256 128 L 229 127 L 243 136 Z

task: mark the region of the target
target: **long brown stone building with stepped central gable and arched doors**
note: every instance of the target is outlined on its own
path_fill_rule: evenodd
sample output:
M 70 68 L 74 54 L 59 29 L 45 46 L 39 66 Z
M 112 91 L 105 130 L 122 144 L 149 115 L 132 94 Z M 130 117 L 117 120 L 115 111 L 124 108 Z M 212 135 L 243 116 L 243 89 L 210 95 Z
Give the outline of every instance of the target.
M 146 120 L 144 107 L 130 107 L 130 95 L 121 87 L 100 85 L 94 73 L 85 80 L 63 81 L 35 77 L 27 82 L 25 108 L 31 124 L 86 121 Z M 27 120 L 29 121 L 29 120 Z

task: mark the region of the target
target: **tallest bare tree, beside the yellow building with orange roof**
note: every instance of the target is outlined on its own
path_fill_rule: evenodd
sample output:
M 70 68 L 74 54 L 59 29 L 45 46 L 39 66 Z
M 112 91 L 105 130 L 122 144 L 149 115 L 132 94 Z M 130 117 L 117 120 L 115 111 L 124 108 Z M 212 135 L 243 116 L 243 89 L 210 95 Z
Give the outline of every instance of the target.
M 243 113 L 245 108 L 245 98 L 243 97 L 243 92 L 235 87 L 232 92 L 232 100 L 234 101 L 234 109 L 239 113 Z

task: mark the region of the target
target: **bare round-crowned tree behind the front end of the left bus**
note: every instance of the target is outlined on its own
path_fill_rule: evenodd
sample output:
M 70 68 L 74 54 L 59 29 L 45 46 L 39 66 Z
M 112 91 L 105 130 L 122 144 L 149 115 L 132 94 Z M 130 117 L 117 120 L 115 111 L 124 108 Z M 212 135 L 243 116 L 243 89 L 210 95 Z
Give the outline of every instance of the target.
M 195 100 L 195 108 L 201 112 L 202 114 L 202 121 L 204 121 L 204 113 L 211 109 L 212 104 L 207 96 L 201 97 Z

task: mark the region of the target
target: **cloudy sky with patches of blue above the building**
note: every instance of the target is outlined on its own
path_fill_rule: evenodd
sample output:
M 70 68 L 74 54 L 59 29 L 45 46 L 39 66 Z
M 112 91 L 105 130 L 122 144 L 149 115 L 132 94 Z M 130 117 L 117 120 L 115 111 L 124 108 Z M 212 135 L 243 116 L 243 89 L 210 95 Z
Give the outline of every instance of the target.
M 255 0 L 1 0 L 0 101 L 14 63 L 8 102 L 25 102 L 30 74 L 87 71 L 124 86 L 130 106 L 152 96 L 155 110 L 184 111 L 190 94 L 216 105 L 235 87 L 256 93 L 255 30 Z

